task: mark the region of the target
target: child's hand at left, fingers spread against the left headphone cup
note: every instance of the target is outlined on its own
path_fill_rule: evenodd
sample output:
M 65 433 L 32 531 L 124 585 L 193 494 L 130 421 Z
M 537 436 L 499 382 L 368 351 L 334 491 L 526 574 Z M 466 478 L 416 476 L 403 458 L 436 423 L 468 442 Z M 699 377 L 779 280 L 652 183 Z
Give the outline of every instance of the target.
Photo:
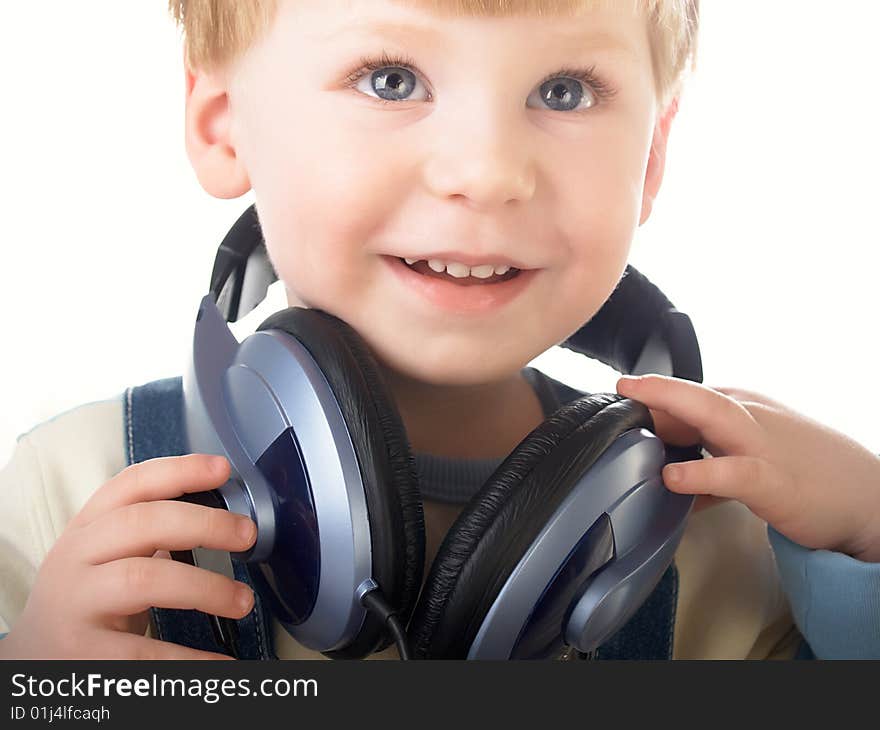
M 175 497 L 223 485 L 229 462 L 203 454 L 123 469 L 91 496 L 49 550 L 2 658 L 230 659 L 144 636 L 150 606 L 247 615 L 253 591 L 170 559 L 196 546 L 247 549 L 252 520 Z M 165 559 L 162 559 L 162 558 Z

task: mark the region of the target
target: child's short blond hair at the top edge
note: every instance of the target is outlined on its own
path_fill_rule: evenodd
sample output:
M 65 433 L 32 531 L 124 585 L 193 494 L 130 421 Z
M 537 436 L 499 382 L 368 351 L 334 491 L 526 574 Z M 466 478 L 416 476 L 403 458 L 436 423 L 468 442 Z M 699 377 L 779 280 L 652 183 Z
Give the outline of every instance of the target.
M 406 0 L 405 4 L 451 16 L 505 16 L 522 13 L 572 14 L 623 0 Z M 660 109 L 681 93 L 688 70 L 696 68 L 699 0 L 632 0 L 644 10 L 654 86 Z M 277 0 L 168 0 L 184 35 L 189 68 L 214 70 L 233 63 L 269 28 Z

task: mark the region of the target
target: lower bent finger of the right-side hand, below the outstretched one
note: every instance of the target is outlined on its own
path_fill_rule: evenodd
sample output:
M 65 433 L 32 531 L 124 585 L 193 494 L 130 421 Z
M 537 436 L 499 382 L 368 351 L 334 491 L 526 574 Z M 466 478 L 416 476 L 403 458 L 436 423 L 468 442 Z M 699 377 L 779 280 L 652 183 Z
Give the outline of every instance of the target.
M 767 522 L 783 516 L 782 510 L 790 511 L 797 497 L 784 472 L 755 456 L 716 456 L 668 464 L 662 475 L 670 491 L 735 499 Z

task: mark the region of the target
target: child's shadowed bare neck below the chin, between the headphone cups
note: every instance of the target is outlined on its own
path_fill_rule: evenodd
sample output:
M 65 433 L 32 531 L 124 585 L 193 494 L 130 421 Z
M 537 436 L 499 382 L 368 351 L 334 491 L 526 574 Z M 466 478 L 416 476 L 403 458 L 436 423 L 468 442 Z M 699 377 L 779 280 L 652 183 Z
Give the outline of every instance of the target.
M 521 372 L 477 385 L 425 383 L 384 366 L 382 375 L 414 452 L 503 458 L 544 420 L 541 402 Z

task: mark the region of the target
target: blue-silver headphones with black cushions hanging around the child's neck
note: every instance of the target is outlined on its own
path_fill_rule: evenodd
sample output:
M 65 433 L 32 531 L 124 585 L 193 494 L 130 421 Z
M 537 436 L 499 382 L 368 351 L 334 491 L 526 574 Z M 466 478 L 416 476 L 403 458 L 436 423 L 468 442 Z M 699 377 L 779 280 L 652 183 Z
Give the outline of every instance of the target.
M 699 447 L 664 445 L 648 408 L 617 394 L 562 405 L 465 505 L 422 587 L 415 462 L 365 342 L 303 307 L 241 343 L 228 327 L 275 280 L 251 206 L 217 251 L 183 377 L 188 450 L 226 456 L 230 479 L 184 498 L 247 515 L 257 538 L 190 562 L 230 576 L 231 560 L 248 563 L 285 630 L 332 659 L 392 641 L 401 658 L 591 656 L 671 564 L 694 497 L 669 491 L 661 470 Z M 621 373 L 702 382 L 690 319 L 630 266 L 560 344 Z M 212 620 L 234 647 L 234 622 Z

